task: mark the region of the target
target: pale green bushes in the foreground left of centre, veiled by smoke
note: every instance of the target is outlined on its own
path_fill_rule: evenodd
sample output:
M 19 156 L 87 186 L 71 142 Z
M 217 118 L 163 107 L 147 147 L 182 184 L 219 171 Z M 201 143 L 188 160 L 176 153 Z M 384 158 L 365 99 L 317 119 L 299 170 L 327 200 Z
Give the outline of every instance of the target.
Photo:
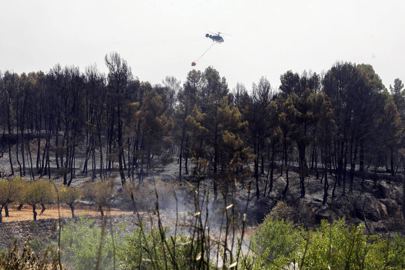
M 60 241 L 64 265 L 75 270 L 95 269 L 99 260 L 99 269 L 193 269 L 190 266 L 198 261 L 201 245 L 183 233 L 166 236 L 166 229 L 157 228 L 146 232 L 142 224 L 124 235 L 124 227 L 114 228 L 113 239 L 110 230 L 102 230 L 84 217 L 68 223 Z

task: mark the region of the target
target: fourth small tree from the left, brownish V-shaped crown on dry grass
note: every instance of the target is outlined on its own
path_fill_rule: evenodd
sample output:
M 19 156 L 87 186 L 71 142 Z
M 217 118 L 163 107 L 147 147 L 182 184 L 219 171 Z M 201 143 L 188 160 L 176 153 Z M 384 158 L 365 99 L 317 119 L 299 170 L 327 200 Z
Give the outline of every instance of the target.
M 97 183 L 85 182 L 84 188 L 86 195 L 98 205 L 101 216 L 104 216 L 103 207 L 111 203 L 114 193 L 114 180 L 106 178 Z

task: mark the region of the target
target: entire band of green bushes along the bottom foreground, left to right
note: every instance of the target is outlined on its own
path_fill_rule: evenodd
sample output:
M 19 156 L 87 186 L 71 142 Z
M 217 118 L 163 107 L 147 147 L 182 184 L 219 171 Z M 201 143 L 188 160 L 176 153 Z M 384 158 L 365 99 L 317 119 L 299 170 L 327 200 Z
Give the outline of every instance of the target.
M 202 241 L 198 236 L 183 233 L 168 235 L 162 227 L 146 231 L 143 224 L 124 234 L 123 227 L 104 225 L 100 228 L 94 226 L 94 221 L 81 218 L 63 228 L 60 253 L 64 267 L 76 270 L 97 266 L 123 270 L 222 268 L 222 264 L 214 261 L 216 256 L 208 257 L 215 253 L 209 238 Z M 305 231 L 290 221 L 272 220 L 268 216 L 251 238 L 253 252 L 243 255 L 243 248 L 238 246 L 230 257 L 220 250 L 219 257 L 226 261 L 225 268 L 248 270 L 404 269 L 405 238 L 396 234 L 390 239 L 364 235 L 363 224 L 347 227 L 344 219 L 332 223 L 322 221 L 315 231 Z M 0 269 L 59 269 L 57 253 L 51 256 L 52 249 L 48 247 L 45 255 L 34 255 L 29 240 L 23 252 L 16 241 L 9 251 L 1 251 Z

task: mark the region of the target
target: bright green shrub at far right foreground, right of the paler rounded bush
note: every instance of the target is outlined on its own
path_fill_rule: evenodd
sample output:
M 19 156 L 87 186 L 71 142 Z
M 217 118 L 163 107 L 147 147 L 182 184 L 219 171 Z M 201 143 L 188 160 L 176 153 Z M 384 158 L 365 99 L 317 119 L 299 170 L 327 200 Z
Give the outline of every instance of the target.
M 302 269 L 403 269 L 403 259 L 394 255 L 403 252 L 403 239 L 397 239 L 391 247 L 389 244 L 377 234 L 364 235 L 363 223 L 347 228 L 345 219 L 333 223 L 323 220 L 309 234 Z M 391 267 L 387 268 L 389 264 Z

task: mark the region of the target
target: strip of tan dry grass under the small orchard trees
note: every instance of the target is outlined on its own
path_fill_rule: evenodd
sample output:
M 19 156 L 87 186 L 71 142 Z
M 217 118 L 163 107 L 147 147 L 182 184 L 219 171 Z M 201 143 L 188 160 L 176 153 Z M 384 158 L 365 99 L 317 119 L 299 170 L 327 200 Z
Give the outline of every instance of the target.
M 9 207 L 9 215 L 10 217 L 4 217 L 4 209 L 2 212 L 3 215 L 3 222 L 13 222 L 13 221 L 23 221 L 23 220 L 33 220 L 34 215 L 32 213 L 32 207 L 28 205 L 24 205 L 22 210 L 17 210 L 18 206 L 11 206 Z M 42 215 L 39 215 L 42 207 L 37 206 L 36 212 L 38 215 L 36 219 L 58 219 L 58 207 L 55 205 L 45 205 L 46 210 Z M 122 214 L 132 214 L 132 211 L 122 211 L 119 209 L 111 208 L 111 209 L 104 209 L 104 215 L 122 215 Z M 75 206 L 75 216 L 80 217 L 82 215 L 87 216 L 99 216 L 100 212 L 97 211 L 97 206 Z M 60 206 L 60 216 L 61 217 L 72 217 L 72 212 L 70 211 L 69 206 L 61 205 Z

